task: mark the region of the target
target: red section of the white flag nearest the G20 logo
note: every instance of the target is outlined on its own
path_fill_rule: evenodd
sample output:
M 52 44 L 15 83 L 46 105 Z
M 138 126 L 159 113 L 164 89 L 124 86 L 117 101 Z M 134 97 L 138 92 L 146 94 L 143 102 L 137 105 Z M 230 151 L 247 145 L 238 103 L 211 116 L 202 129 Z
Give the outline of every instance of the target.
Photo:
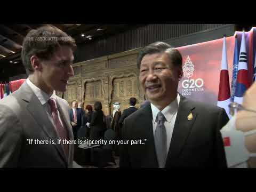
M 228 70 L 221 70 L 218 101 L 225 101 L 229 98 L 230 98 L 230 87 L 229 87 Z

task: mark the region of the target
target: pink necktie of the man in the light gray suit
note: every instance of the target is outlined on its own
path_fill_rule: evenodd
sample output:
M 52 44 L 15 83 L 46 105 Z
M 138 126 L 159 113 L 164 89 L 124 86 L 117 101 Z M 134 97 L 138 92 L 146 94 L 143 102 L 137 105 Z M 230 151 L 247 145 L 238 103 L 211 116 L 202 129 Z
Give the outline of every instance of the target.
M 65 140 L 65 139 L 68 140 L 67 130 L 64 129 L 64 127 L 60 123 L 60 119 L 59 119 L 59 116 L 58 116 L 58 110 L 57 110 L 57 104 L 56 104 L 55 99 L 50 98 L 48 102 L 49 102 L 49 105 L 51 107 L 51 114 L 52 114 L 53 121 L 55 123 L 55 127 L 57 129 L 57 132 L 59 134 L 59 137 L 60 137 L 61 143 L 62 143 L 62 140 Z M 68 151 L 69 151 L 68 145 L 62 145 L 62 146 L 64 148 L 66 156 L 68 157 Z

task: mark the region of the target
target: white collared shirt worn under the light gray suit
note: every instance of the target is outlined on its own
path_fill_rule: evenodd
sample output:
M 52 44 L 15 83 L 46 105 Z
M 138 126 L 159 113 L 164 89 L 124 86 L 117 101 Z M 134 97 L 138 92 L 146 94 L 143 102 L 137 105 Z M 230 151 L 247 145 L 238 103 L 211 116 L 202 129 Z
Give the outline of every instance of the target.
M 47 117 L 50 119 L 53 126 L 55 127 L 55 123 L 53 121 L 52 114 L 51 114 L 51 108 L 50 108 L 50 105 L 48 103 L 48 100 L 50 98 L 53 98 L 53 99 L 56 100 L 57 97 L 56 97 L 55 91 L 53 91 L 52 95 L 49 95 L 49 94 L 45 93 L 43 90 L 39 89 L 36 85 L 34 85 L 29 80 L 29 78 L 26 79 L 26 82 L 27 82 L 28 86 L 32 89 L 32 91 L 35 93 L 36 97 L 39 99 L 39 101 L 42 104 L 44 110 L 46 111 Z M 58 108 L 58 105 L 57 105 L 57 108 Z M 64 127 L 63 126 L 63 119 L 60 116 L 59 109 L 58 109 L 58 117 L 60 119 L 60 123 L 61 123 L 62 127 Z

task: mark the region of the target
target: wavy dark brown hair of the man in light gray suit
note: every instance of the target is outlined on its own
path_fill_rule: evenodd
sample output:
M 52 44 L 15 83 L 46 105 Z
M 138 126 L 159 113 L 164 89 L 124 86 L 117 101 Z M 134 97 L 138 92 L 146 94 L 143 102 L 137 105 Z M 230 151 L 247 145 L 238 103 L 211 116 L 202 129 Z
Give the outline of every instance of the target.
M 22 63 L 27 74 L 33 74 L 30 58 L 36 55 L 39 59 L 49 60 L 60 46 L 69 46 L 76 49 L 75 40 L 65 32 L 51 26 L 43 26 L 32 29 L 24 38 L 21 51 Z

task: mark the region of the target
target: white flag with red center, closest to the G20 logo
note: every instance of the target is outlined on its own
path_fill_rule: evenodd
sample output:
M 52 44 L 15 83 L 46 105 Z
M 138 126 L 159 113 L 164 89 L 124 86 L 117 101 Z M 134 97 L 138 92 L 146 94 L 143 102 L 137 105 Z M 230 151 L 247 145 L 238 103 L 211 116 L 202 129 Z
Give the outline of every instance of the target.
M 226 51 L 226 37 L 223 37 L 222 46 L 222 59 L 221 59 L 221 70 L 220 70 L 220 84 L 217 105 L 226 110 L 227 115 L 229 114 L 230 103 L 230 87 L 229 87 L 229 76 L 228 76 L 228 60 Z

